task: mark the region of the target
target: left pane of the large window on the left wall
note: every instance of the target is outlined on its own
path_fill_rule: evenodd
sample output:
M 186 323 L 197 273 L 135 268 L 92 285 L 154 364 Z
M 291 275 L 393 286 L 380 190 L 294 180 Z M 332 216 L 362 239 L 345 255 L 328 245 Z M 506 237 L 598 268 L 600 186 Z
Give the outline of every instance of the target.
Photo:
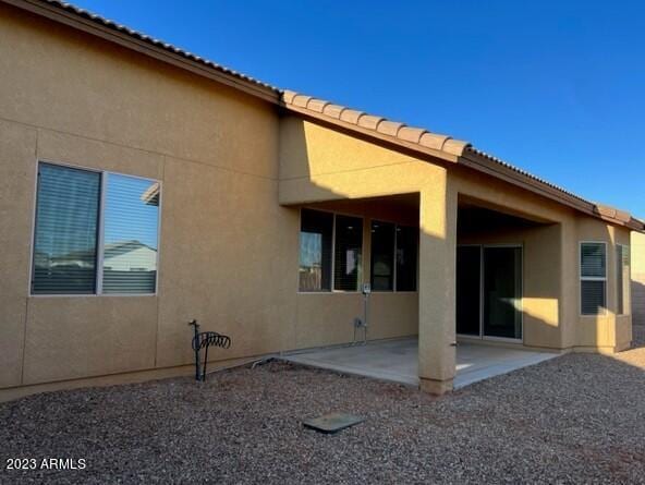
M 100 173 L 40 163 L 34 240 L 34 294 L 96 291 Z

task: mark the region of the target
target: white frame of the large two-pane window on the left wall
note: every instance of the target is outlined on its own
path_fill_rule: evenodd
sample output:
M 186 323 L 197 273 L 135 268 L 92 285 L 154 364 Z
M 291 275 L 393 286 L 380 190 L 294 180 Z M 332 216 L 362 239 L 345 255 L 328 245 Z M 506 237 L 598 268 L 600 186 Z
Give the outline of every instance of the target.
M 53 165 L 57 167 L 66 167 L 70 169 L 76 170 L 85 170 L 87 172 L 94 172 L 100 174 L 100 194 L 99 194 L 99 217 L 98 217 L 98 230 L 97 230 L 97 244 L 96 244 L 96 281 L 95 281 L 95 292 L 94 293 L 63 293 L 63 294 L 45 294 L 45 293 L 34 293 L 32 290 L 32 281 L 34 278 L 34 250 L 36 244 L 36 210 L 37 210 L 37 201 L 38 201 L 38 170 L 40 168 L 40 163 L 48 163 Z M 146 180 L 151 181 L 159 184 L 159 210 L 157 217 L 157 257 L 156 257 L 156 266 L 157 266 L 157 275 L 155 277 L 155 291 L 151 293 L 104 293 L 102 286 L 104 286 L 104 235 L 105 235 L 105 206 L 106 206 L 106 181 L 107 175 L 113 173 L 115 175 L 123 175 L 123 177 L 131 177 L 133 179 Z M 159 294 L 159 254 L 161 252 L 161 210 L 163 205 L 163 183 L 161 180 L 154 179 L 151 177 L 142 177 L 142 175 L 133 175 L 131 173 L 123 173 L 123 172 L 115 172 L 112 170 L 101 170 L 95 167 L 84 167 L 73 163 L 65 163 L 61 161 L 53 161 L 46 158 L 38 158 L 36 161 L 36 177 L 34 183 L 34 204 L 32 210 L 32 241 L 29 244 L 31 257 L 29 257 L 29 277 L 27 278 L 27 294 L 29 298 L 97 298 L 97 296 L 134 296 L 134 298 L 142 298 L 142 296 L 157 296 Z

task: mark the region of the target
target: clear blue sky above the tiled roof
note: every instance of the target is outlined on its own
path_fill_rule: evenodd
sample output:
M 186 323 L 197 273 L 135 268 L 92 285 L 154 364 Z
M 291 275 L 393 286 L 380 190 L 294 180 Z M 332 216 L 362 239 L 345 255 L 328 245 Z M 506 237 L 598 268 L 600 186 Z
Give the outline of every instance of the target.
M 75 0 L 645 217 L 645 2 Z

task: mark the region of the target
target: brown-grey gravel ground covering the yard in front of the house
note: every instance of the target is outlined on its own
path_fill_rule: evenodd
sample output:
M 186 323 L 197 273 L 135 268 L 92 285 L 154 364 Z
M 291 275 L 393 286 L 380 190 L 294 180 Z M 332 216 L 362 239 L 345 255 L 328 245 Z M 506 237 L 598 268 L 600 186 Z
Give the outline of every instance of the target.
M 645 345 L 645 329 L 635 329 Z M 3 483 L 645 483 L 645 347 L 434 399 L 283 363 L 0 404 Z M 337 435 L 301 420 L 345 411 Z M 84 458 L 85 470 L 7 471 Z

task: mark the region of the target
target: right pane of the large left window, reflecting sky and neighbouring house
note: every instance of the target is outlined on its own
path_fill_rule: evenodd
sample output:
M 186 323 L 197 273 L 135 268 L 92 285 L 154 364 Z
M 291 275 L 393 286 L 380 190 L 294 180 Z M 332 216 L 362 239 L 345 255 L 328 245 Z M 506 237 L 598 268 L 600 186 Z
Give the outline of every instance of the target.
M 155 292 L 158 220 L 158 182 L 106 175 L 104 293 Z

